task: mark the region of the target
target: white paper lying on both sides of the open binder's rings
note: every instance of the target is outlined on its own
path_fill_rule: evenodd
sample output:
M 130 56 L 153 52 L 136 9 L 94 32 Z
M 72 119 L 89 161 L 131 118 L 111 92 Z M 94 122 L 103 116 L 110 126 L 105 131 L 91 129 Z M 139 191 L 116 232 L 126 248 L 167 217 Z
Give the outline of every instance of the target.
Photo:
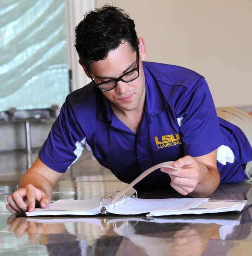
M 125 203 L 118 200 L 115 205 L 111 199 L 104 199 L 103 205 L 108 213 L 119 215 L 135 215 L 147 213 L 146 216 L 163 216 L 178 214 L 219 213 L 241 211 L 246 201 L 209 200 L 208 198 L 180 199 L 132 199 Z M 100 200 L 58 200 L 46 208 L 36 208 L 26 212 L 27 216 L 58 216 L 58 215 L 96 215 L 101 213 Z

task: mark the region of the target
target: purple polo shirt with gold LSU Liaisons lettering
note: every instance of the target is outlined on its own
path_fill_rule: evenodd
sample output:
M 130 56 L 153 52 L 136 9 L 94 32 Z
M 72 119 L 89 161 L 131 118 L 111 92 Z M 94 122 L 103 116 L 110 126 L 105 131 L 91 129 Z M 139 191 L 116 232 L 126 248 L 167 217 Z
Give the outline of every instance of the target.
M 204 77 L 174 65 L 143 62 L 146 98 L 137 134 L 113 113 L 94 84 L 69 94 L 39 158 L 64 173 L 87 149 L 101 165 L 130 183 L 161 162 L 202 156 L 218 148 L 222 183 L 241 182 L 241 164 L 252 160 L 243 132 L 216 115 Z M 137 190 L 167 190 L 168 174 L 156 170 L 135 185 Z

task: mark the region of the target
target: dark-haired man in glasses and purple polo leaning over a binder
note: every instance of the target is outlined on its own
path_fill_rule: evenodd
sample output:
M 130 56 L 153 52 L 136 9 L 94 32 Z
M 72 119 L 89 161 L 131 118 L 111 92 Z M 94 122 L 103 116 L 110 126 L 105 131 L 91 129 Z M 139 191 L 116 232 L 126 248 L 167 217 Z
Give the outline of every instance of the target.
M 32 211 L 35 201 L 46 207 L 52 188 L 85 147 L 127 183 L 161 162 L 182 168 L 161 168 L 137 190 L 171 186 L 182 195 L 206 197 L 220 181 L 249 178 L 252 117 L 231 108 L 220 109 L 218 118 L 202 76 L 143 62 L 144 39 L 123 10 L 106 5 L 85 15 L 75 46 L 92 82 L 67 96 L 38 158 L 8 196 L 9 211 Z

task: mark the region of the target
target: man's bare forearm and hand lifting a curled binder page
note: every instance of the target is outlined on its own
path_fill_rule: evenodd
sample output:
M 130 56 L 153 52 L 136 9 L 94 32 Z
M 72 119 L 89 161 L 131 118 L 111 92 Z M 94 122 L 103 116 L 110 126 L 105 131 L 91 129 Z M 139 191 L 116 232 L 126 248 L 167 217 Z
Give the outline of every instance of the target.
M 216 158 L 217 149 L 204 156 L 185 156 L 173 163 L 173 167 L 181 170 L 161 168 L 161 171 L 169 174 L 172 179 L 170 185 L 180 194 L 208 197 L 220 184 Z

